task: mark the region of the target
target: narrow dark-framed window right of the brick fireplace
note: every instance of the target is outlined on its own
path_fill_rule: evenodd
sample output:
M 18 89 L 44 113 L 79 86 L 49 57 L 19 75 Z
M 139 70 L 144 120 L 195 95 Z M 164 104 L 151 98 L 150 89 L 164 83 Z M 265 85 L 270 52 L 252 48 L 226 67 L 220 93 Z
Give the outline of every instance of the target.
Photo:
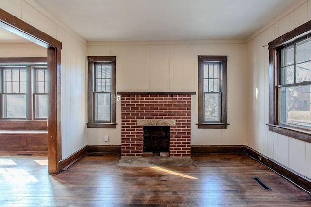
M 227 128 L 227 56 L 199 56 L 198 128 Z

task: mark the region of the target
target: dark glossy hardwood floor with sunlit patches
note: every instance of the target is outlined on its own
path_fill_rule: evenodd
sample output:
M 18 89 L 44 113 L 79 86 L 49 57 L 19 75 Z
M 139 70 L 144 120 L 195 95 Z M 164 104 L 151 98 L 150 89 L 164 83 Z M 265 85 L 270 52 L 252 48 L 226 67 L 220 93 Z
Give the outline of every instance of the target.
M 18 154 L 0 152 L 1 207 L 311 206 L 309 193 L 246 155 L 195 156 L 196 167 L 164 170 L 87 156 L 48 175 L 46 153 Z

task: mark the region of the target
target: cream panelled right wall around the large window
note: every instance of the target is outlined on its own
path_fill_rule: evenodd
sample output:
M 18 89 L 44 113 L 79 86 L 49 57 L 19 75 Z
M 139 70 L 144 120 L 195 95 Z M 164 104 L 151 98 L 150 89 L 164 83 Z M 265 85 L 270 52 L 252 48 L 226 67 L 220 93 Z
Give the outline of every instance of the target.
M 311 143 L 270 132 L 266 125 L 269 123 L 269 51 L 263 47 L 309 20 L 311 0 L 299 1 L 247 39 L 246 145 L 311 178 Z

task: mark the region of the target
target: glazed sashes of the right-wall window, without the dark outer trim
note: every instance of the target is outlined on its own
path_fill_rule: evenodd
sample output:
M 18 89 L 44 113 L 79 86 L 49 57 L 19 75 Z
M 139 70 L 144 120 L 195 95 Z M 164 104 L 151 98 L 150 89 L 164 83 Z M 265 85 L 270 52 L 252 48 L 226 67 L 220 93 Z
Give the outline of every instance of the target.
M 279 51 L 279 123 L 311 127 L 311 41 L 294 42 Z

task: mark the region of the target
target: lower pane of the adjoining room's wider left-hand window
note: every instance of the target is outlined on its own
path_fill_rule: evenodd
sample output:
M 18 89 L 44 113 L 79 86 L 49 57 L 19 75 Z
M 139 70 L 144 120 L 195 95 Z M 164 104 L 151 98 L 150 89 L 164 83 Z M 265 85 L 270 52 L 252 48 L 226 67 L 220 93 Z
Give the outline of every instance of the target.
M 26 95 L 3 95 L 4 118 L 26 118 Z

